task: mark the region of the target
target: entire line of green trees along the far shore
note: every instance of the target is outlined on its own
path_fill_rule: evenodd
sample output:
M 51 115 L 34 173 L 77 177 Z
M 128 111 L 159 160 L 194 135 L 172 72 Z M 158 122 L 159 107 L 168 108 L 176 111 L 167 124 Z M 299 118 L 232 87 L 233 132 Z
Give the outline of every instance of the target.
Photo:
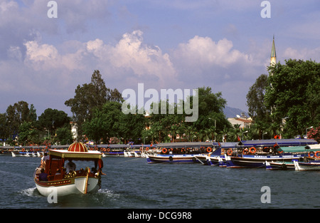
M 73 121 L 78 130 L 77 140 L 95 143 L 222 142 L 237 141 L 242 136 L 244 140 L 252 140 L 279 135 L 294 138 L 306 133 L 320 142 L 320 64 L 289 59 L 285 64 L 268 67 L 267 71 L 268 75 L 259 76 L 247 93 L 247 107 L 253 120 L 250 128 L 232 126 L 223 114 L 227 102 L 222 93 L 213 93 L 209 87 L 198 88 L 195 122 L 184 121 L 186 113 L 176 112 L 178 103 L 174 103 L 174 114 L 124 114 L 121 93 L 117 88 L 107 88 L 96 70 L 91 82 L 78 85 L 75 96 L 65 101 L 72 117 L 52 108 L 37 117 L 33 105 L 29 107 L 19 101 L 0 114 L 0 139 L 20 145 L 67 144 L 73 141 L 70 131 Z M 18 142 L 14 142 L 16 136 Z

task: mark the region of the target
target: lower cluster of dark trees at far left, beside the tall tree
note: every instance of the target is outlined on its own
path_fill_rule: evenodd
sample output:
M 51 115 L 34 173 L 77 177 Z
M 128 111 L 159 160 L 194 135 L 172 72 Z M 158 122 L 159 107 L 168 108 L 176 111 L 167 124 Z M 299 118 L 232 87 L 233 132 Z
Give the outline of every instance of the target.
M 73 141 L 70 121 L 63 110 L 52 108 L 37 117 L 34 105 L 21 100 L 0 113 L 0 140 L 6 145 L 66 144 Z

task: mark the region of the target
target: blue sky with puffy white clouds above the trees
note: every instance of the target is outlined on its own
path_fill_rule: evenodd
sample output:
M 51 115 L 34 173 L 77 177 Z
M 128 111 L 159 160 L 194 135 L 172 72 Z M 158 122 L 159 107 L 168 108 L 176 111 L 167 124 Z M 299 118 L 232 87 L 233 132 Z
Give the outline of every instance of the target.
M 0 0 L 0 113 L 20 100 L 69 115 L 95 70 L 108 88 L 210 87 L 247 111 L 250 86 L 277 61 L 320 62 L 320 1 Z M 56 10 L 58 18 L 49 18 Z M 262 11 L 270 14 L 263 18 Z

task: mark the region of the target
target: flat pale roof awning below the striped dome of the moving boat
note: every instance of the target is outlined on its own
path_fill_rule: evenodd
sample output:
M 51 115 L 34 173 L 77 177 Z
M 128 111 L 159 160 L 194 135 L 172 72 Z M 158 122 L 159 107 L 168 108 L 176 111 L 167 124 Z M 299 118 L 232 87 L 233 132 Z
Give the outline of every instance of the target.
M 101 159 L 102 153 L 99 151 L 88 152 L 70 152 L 66 150 L 49 150 L 50 157 L 60 157 L 63 159 L 80 159 L 80 160 L 95 160 Z

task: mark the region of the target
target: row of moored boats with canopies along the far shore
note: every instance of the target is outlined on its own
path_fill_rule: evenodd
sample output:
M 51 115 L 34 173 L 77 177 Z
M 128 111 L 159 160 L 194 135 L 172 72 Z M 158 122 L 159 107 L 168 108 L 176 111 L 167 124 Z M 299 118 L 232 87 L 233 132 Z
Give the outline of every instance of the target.
M 66 148 L 68 145 L 54 146 L 52 149 Z M 39 157 L 48 151 L 48 146 L 0 149 L 2 154 Z M 149 163 L 201 163 L 218 167 L 267 170 L 320 170 L 320 145 L 311 139 L 87 145 L 87 149 L 101 152 L 102 157 L 145 157 Z

